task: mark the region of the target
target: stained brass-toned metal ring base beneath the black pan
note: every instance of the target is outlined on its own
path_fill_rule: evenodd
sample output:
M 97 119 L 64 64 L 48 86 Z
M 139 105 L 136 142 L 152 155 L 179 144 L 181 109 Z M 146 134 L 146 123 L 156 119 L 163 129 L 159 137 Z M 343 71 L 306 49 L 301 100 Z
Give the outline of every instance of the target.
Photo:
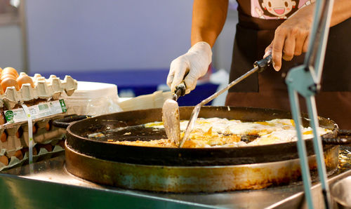
M 338 166 L 338 146 L 324 151 L 328 174 Z M 317 169 L 314 156 L 310 169 Z M 67 147 L 67 171 L 99 184 L 126 189 L 171 192 L 216 192 L 289 184 L 299 180 L 300 161 L 291 159 L 270 163 L 229 166 L 152 166 L 106 161 L 80 154 Z

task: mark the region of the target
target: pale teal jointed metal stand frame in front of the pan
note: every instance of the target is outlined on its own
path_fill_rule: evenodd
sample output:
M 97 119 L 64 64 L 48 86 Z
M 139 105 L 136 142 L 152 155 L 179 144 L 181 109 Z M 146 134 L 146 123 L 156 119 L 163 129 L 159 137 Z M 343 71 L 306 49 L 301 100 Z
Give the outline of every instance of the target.
M 319 180 L 322 184 L 324 203 L 326 208 L 331 208 L 329 186 L 326 183 L 327 175 L 324 164 L 322 141 L 317 132 L 319 123 L 317 120 L 317 109 L 314 95 L 320 88 L 319 83 L 322 77 L 322 67 L 324 63 L 332 8 L 333 0 L 316 1 L 314 23 L 310 34 L 310 45 L 305 56 L 305 62 L 303 65 L 291 69 L 286 76 L 291 112 L 293 115 L 293 120 L 296 123 L 296 131 L 298 135 L 298 155 L 300 157 L 303 185 L 308 208 L 314 208 L 314 206 L 312 202 L 310 169 L 308 167 L 305 142 L 303 141 L 303 135 L 300 129 L 302 123 L 300 119 L 298 93 L 305 97 L 306 100 L 308 116 L 310 118 L 310 126 L 313 129 L 314 153 L 316 154 L 317 158 L 318 174 Z

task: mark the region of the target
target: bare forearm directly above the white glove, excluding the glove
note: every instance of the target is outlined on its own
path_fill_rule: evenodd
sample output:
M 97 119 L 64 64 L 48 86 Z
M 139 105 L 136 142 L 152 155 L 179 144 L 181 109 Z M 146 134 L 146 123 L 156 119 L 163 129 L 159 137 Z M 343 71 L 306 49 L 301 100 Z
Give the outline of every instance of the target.
M 227 18 L 228 0 L 194 0 L 192 46 L 199 41 L 214 45 Z

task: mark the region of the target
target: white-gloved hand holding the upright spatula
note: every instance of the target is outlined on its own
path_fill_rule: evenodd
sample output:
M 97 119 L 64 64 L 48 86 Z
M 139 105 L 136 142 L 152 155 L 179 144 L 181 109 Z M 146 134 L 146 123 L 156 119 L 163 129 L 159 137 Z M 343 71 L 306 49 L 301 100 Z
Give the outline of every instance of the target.
M 171 62 L 167 85 L 171 87 L 173 92 L 176 86 L 184 80 L 185 86 L 187 86 L 185 93 L 190 93 L 197 86 L 197 79 L 206 74 L 211 62 L 211 46 L 204 41 L 195 43 L 187 53 Z

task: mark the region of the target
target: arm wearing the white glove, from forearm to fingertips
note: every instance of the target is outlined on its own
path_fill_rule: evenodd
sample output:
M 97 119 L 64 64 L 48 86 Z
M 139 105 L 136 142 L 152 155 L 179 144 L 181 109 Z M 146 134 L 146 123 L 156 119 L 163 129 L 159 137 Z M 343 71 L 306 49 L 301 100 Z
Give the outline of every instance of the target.
M 228 0 L 194 0 L 192 8 L 192 47 L 171 62 L 167 85 L 174 91 L 183 80 L 185 93 L 197 85 L 212 62 L 212 46 L 227 17 Z

